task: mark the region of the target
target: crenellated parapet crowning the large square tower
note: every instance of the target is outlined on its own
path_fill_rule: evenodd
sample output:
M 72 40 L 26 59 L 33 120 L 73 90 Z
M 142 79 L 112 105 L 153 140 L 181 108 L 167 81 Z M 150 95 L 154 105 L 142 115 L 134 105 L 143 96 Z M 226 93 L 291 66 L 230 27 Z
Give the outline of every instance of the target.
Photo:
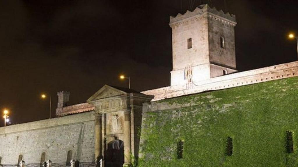
M 204 15 L 205 14 L 205 15 Z M 229 12 L 224 13 L 223 10 L 217 10 L 215 7 L 211 8 L 208 4 L 203 4 L 195 8 L 192 12 L 187 10 L 184 14 L 178 13 L 176 16 L 170 16 L 170 26 L 180 25 L 189 21 L 197 20 L 200 17 L 207 16 L 226 24 L 236 26 L 236 16 Z

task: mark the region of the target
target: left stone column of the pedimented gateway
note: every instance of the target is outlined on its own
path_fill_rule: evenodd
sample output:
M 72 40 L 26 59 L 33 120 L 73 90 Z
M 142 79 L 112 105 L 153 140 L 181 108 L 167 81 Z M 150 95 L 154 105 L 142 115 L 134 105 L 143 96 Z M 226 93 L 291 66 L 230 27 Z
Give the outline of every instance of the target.
M 97 158 L 102 158 L 102 124 L 101 118 L 102 114 L 95 113 L 95 162 L 98 161 Z

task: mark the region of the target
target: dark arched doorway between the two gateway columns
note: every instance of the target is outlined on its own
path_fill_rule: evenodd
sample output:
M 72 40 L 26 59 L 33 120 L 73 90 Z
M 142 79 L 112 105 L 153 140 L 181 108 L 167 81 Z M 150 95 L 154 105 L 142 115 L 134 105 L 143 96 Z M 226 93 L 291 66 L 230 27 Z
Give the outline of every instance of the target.
M 113 140 L 110 143 L 108 143 L 108 149 L 105 152 L 105 167 L 122 167 L 123 163 L 123 141 Z

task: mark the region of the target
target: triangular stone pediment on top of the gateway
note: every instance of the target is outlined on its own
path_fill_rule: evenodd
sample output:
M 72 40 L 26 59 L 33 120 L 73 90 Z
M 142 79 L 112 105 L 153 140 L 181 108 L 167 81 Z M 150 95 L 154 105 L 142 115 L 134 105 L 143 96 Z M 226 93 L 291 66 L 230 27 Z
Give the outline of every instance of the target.
M 116 89 L 112 86 L 105 85 L 102 88 L 100 88 L 96 93 L 94 93 L 88 100 L 87 102 L 92 102 L 100 99 L 105 99 L 109 97 L 115 97 L 119 95 L 125 95 L 127 94 L 126 92 Z

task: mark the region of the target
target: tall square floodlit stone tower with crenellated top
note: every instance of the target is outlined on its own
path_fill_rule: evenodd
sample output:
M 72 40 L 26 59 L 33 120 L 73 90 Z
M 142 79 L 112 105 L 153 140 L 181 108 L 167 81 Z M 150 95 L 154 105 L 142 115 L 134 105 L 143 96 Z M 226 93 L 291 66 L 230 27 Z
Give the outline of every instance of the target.
M 235 15 L 200 5 L 170 17 L 173 70 L 171 86 L 236 72 Z

